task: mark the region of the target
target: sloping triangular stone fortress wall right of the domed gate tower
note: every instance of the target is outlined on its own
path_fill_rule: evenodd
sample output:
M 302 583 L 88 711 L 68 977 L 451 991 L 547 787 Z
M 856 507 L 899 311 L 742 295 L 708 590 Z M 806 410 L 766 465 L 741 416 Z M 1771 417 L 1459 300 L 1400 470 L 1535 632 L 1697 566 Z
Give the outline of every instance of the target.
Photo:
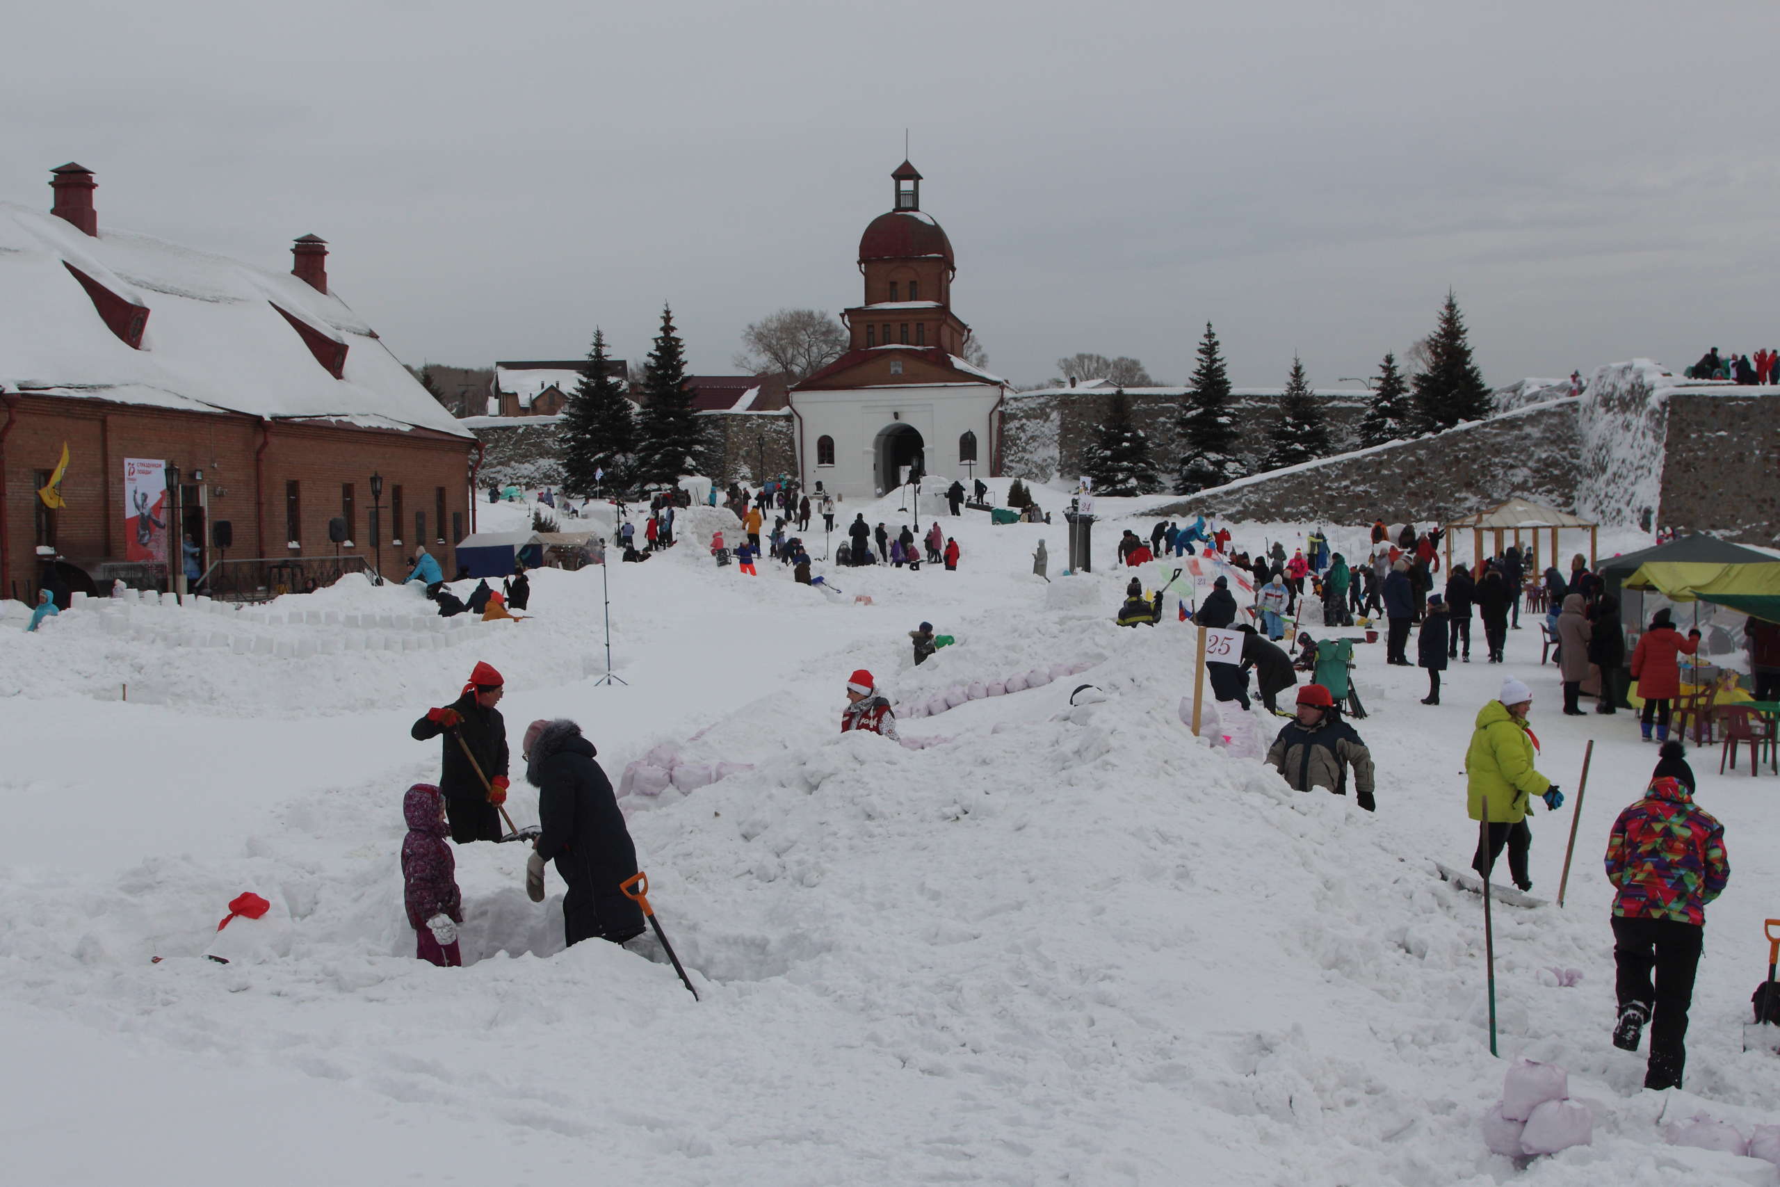
M 1577 404 L 1534 404 L 1413 441 L 1258 473 L 1155 514 L 1404 523 L 1467 514 L 1513 495 L 1568 511 L 1577 488 Z

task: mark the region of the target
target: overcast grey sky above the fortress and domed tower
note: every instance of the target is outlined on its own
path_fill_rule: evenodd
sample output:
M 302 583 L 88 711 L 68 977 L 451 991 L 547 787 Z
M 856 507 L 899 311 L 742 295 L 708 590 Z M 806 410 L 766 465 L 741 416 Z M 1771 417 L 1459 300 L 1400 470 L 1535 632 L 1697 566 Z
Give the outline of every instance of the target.
M 288 267 L 404 361 L 698 370 L 860 299 L 910 128 L 1016 381 L 1369 375 L 1447 287 L 1485 377 L 1780 343 L 1775 0 L 12 5 L 0 199 Z

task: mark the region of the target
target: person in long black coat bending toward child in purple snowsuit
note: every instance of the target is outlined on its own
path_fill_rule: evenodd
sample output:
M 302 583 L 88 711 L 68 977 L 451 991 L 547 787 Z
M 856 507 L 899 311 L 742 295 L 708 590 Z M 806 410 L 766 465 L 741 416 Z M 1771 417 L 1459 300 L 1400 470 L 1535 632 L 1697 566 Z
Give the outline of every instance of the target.
M 595 762 L 593 742 L 573 721 L 534 723 L 525 749 L 525 781 L 538 788 L 538 856 L 555 861 L 568 884 L 562 934 L 568 943 L 643 934 L 643 908 L 623 892 L 637 872 L 637 847 L 618 810 L 612 783 Z

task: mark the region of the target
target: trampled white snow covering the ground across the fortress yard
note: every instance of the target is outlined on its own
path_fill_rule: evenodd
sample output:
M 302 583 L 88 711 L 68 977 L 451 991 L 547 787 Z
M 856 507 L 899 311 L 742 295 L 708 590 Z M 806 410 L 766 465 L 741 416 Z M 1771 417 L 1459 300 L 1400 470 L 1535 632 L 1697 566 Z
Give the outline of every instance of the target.
M 1775 778 L 1696 755 L 1734 872 L 1709 909 L 1687 1091 L 1645 1093 L 1643 1057 L 1607 1041 L 1600 868 L 1655 760 L 1630 719 L 1559 715 L 1531 619 L 1506 669 L 1449 669 L 1438 708 L 1417 703 L 1420 671 L 1362 646 L 1378 813 L 1289 792 L 1180 723 L 1193 651 L 1173 598 L 1157 628 L 1111 621 L 1129 577 L 1116 516 L 1150 502 L 1100 502 L 1093 575 L 1061 577 L 1061 516 L 972 513 L 940 518 L 959 571 L 828 569 L 840 598 L 776 562 L 719 569 L 694 530 L 609 573 L 625 685 L 596 683 L 598 568 L 534 573 L 518 625 L 438 628 L 418 594 L 361 582 L 255 612 L 89 603 L 34 635 L 7 621 L 0 1180 L 1775 1182 L 1659 1126 L 1780 1119 L 1780 1061 L 1741 1052 L 1760 920 L 1780 915 Z M 854 511 L 906 518 L 886 500 L 842 521 Z M 525 514 L 484 507 L 482 529 Z M 1305 527 L 1237 543 L 1290 548 Z M 821 521 L 813 536 L 821 555 Z M 1363 529 L 1333 536 L 1360 552 Z M 1050 584 L 1031 575 L 1041 537 Z M 917 671 L 922 619 L 958 642 Z M 475 660 L 507 678 L 514 749 L 532 717 L 568 715 L 614 783 L 662 744 L 753 763 L 625 801 L 701 1002 L 653 943 L 562 950 L 561 884 L 530 904 L 518 845 L 457 849 L 472 965 L 413 959 L 400 794 L 440 751 L 408 728 Z M 837 733 L 854 667 L 913 705 L 1079 662 L 906 715 L 920 749 Z M 1468 858 L 1463 747 L 1504 671 L 1534 689 L 1541 769 L 1572 804 L 1597 739 L 1568 908 L 1495 913 L 1502 1054 L 1565 1066 L 1595 1143 L 1518 1176 L 1477 1128 L 1508 1066 L 1488 1054 L 1481 900 L 1431 867 Z M 1070 710 L 1089 682 L 1107 699 Z M 1257 737 L 1274 724 L 1253 719 Z M 509 806 L 536 819 L 518 778 Z M 1570 819 L 1534 820 L 1534 893 L 1556 895 Z M 283 954 L 201 959 L 242 890 L 274 902 Z

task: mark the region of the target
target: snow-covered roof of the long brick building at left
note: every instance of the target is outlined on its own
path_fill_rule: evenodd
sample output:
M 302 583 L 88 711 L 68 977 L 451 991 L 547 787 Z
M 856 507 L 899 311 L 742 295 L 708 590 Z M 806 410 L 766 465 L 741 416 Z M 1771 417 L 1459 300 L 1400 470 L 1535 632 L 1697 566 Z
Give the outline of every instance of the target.
M 141 349 L 71 267 L 148 310 Z M 340 379 L 292 322 L 347 347 Z M 94 238 L 14 203 L 0 203 L 0 388 L 468 436 L 338 297 L 148 235 Z

